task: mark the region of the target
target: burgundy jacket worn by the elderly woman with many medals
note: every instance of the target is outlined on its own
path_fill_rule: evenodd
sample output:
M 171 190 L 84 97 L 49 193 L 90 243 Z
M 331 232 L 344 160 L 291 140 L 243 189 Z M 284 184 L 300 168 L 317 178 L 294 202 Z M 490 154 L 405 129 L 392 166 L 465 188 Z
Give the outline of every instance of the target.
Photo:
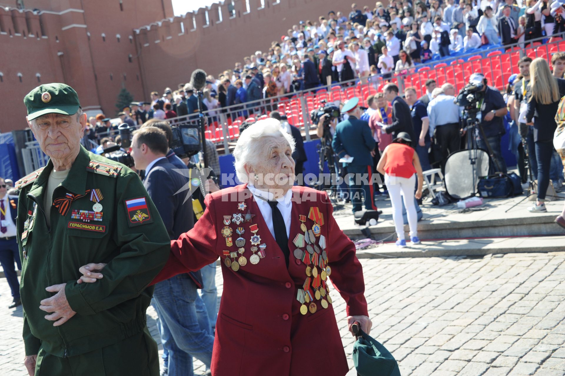
M 153 283 L 171 276 L 198 270 L 221 258 L 224 290 L 221 296 L 216 337 L 212 353 L 214 376 L 304 375 L 322 365 L 324 376 L 344 376 L 349 367 L 345 358 L 336 315 L 332 304 L 324 309 L 321 300 L 314 299 L 315 313 L 301 314 L 297 289 L 302 288 L 307 275 L 306 265 L 294 257 L 294 237 L 300 232 L 299 215 L 308 217 L 311 207 L 318 207 L 324 224 L 321 235 L 326 238 L 328 266 L 332 283 L 346 301 L 349 316 L 367 313 L 363 295 L 363 271 L 355 256 L 355 246 L 340 230 L 332 216 L 332 205 L 325 192 L 293 187 L 292 221 L 289 235 L 289 267 L 277 245 L 259 207 L 246 185 L 223 189 L 206 197 L 206 211 L 194 228 L 171 241 L 171 257 Z M 244 211 L 238 203 L 245 202 Z M 251 222 L 228 227 L 233 230 L 233 246 L 227 247 L 221 235 L 224 215 L 255 214 Z M 250 225 L 258 224 L 260 244 L 266 244 L 266 256 L 259 263 L 249 262 L 251 253 Z M 306 219 L 306 227 L 314 221 Z M 237 252 L 236 229 L 244 228 L 244 256 L 247 264 L 238 271 L 224 264 L 224 250 Z M 316 238 L 318 244 L 319 238 Z M 305 248 L 302 248 L 305 249 Z M 240 256 L 240 254 L 238 254 Z M 233 259 L 232 259 L 233 260 Z M 236 258 L 237 260 L 237 258 Z M 318 267 L 318 271 L 321 269 Z M 337 298 L 331 289 L 329 295 Z

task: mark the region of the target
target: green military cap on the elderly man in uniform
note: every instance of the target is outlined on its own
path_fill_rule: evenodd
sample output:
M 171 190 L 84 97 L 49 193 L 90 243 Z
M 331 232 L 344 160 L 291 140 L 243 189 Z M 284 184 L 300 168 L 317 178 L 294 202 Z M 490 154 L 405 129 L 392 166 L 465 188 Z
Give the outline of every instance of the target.
M 45 114 L 73 115 L 79 111 L 79 95 L 65 84 L 46 84 L 33 89 L 24 97 L 28 120 Z

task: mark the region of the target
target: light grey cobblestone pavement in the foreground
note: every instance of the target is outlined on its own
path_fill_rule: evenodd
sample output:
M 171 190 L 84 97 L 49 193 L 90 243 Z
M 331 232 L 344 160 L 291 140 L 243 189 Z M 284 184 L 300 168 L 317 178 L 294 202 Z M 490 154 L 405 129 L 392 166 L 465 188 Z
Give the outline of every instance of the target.
M 565 375 L 565 252 L 361 262 L 371 335 L 402 376 Z M 221 273 L 216 279 L 221 293 Z M 10 301 L 1 279 L 0 375 L 19 376 L 26 374 L 21 308 L 7 310 Z M 352 367 L 354 338 L 337 296 L 334 310 Z M 158 339 L 152 308 L 148 316 Z

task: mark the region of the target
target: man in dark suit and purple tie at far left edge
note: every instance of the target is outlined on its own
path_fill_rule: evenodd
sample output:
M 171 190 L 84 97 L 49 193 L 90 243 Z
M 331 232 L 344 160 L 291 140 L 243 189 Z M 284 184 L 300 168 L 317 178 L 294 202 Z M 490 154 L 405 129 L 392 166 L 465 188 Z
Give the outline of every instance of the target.
M 14 301 L 8 308 L 21 305 L 20 283 L 14 262 L 21 270 L 20 250 L 16 240 L 16 217 L 18 216 L 18 197 L 8 196 L 4 179 L 0 178 L 0 265 L 4 270 Z

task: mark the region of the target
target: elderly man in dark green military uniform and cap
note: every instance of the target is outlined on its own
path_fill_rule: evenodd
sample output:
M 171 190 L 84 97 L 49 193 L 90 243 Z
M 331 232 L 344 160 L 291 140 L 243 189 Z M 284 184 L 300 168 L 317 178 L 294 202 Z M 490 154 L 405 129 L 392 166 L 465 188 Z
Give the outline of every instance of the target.
M 41 85 L 24 103 L 50 157 L 16 183 L 28 373 L 158 375 L 145 311 L 169 255 L 163 222 L 135 172 L 80 145 L 75 90 Z M 108 262 L 102 288 L 76 283 L 92 260 Z

